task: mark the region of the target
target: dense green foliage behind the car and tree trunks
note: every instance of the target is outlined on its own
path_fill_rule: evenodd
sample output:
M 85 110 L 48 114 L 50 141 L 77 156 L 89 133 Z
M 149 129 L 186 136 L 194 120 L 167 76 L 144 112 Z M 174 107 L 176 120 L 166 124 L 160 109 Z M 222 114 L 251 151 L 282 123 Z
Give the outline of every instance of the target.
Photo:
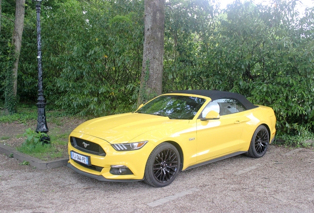
M 14 4 L 2 2 L 7 17 L 1 19 L 0 35 L 3 100 L 2 68 L 9 65 Z M 84 116 L 132 110 L 142 70 L 144 1 L 41 3 L 47 107 Z M 297 0 L 273 0 L 270 5 L 236 0 L 220 11 L 214 0 L 166 1 L 163 92 L 241 93 L 254 104 L 275 110 L 278 137 L 314 132 L 314 8 L 299 15 L 296 4 Z M 25 11 L 18 96 L 35 101 L 35 2 L 27 0 Z M 0 119 L 10 120 L 5 116 Z

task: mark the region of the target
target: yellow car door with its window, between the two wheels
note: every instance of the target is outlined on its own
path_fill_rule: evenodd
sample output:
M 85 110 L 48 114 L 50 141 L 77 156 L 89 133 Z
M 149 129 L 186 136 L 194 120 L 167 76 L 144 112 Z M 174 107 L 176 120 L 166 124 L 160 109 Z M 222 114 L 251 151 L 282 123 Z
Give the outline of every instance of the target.
M 208 111 L 219 112 L 217 120 L 201 121 Z M 233 99 L 210 102 L 196 121 L 196 160 L 202 162 L 227 155 L 239 148 L 245 108 Z

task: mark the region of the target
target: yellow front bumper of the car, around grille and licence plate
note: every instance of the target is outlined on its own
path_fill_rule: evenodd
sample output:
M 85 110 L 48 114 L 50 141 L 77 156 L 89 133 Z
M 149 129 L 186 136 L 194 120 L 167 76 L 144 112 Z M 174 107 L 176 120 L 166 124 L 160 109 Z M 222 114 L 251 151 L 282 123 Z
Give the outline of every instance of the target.
M 81 163 L 69 157 L 68 167 L 75 172 L 101 181 L 115 181 L 115 182 L 132 182 L 144 179 L 145 167 L 147 159 L 155 148 L 155 146 L 148 142 L 141 149 L 133 151 L 116 151 L 112 145 L 102 139 L 92 137 L 89 135 L 72 132 L 70 137 L 79 138 L 88 142 L 99 144 L 105 151 L 105 156 L 86 153 L 72 146 L 70 140 L 68 143 L 68 153 L 74 151 L 81 155 L 90 157 L 90 166 L 82 165 Z M 69 137 L 69 139 L 70 139 Z M 117 175 L 110 172 L 112 165 L 122 165 L 127 167 L 131 173 L 126 175 Z

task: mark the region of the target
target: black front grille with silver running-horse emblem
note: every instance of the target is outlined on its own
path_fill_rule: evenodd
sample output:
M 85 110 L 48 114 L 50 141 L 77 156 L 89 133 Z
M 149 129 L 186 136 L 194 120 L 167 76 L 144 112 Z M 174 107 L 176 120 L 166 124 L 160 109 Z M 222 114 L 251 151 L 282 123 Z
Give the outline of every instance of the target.
M 73 147 L 79 149 L 80 151 L 94 155 L 106 156 L 104 149 L 97 143 L 75 137 L 70 137 L 70 142 Z

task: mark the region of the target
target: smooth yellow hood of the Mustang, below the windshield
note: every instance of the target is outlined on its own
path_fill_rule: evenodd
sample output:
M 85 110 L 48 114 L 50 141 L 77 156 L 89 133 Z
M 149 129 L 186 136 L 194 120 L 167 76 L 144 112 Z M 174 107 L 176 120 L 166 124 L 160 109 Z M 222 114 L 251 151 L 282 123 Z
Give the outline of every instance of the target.
M 171 120 L 151 114 L 124 113 L 95 118 L 80 124 L 73 132 L 103 139 L 109 143 L 125 143 L 147 132 L 167 128 L 188 120 Z

